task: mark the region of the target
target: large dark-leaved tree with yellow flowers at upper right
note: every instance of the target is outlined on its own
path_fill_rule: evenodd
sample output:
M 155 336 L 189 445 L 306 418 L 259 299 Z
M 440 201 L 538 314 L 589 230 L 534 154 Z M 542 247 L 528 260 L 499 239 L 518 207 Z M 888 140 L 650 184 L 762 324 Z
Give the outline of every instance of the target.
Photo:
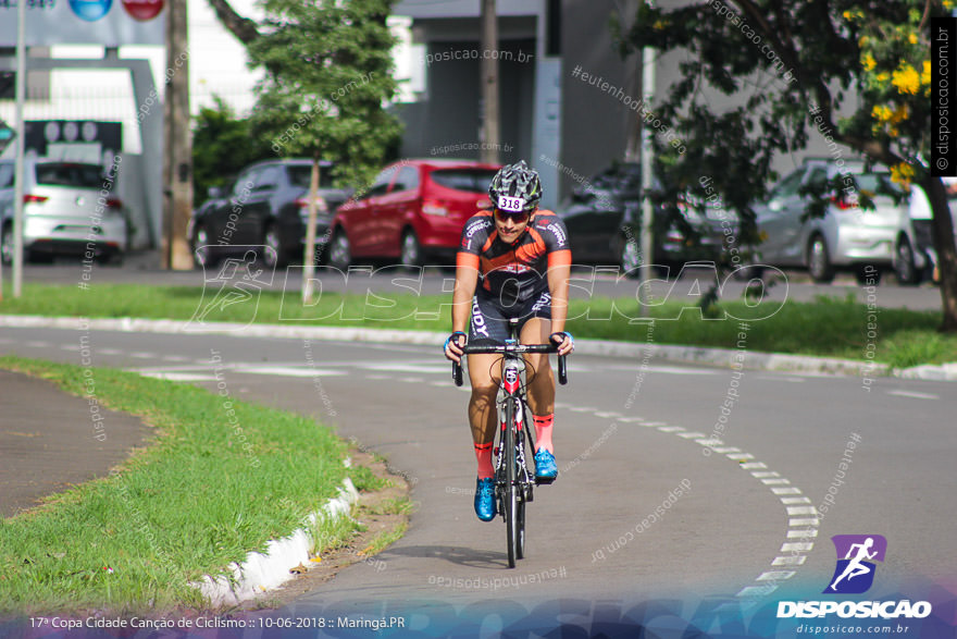
M 945 7 L 946 4 L 946 7 Z M 766 193 L 779 153 L 804 149 L 817 130 L 919 184 L 933 210 L 940 259 L 942 331 L 957 331 L 957 249 L 944 185 L 931 175 L 932 17 L 952 0 L 708 0 L 659 9 L 642 0 L 633 26 L 617 25 L 622 56 L 643 46 L 687 51 L 682 77 L 657 118 L 676 128 L 686 152 L 658 144 L 675 191 L 704 195 L 703 176 L 757 239 L 750 202 Z M 714 112 L 709 90 L 744 95 Z M 820 195 L 820 194 L 819 194 Z M 813 207 L 811 207 L 813 208 Z M 820 213 L 809 210 L 810 214 Z

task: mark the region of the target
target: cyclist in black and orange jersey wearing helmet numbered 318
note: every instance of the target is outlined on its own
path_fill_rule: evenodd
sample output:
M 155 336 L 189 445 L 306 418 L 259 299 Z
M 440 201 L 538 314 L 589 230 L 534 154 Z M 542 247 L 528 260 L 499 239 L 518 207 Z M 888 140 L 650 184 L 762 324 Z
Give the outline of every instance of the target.
M 453 332 L 446 340 L 445 356 L 461 361 L 465 343 L 504 343 L 509 318 L 519 318 L 522 343 L 554 342 L 561 355 L 571 353 L 574 341 L 564 331 L 572 262 L 568 231 L 554 212 L 538 210 L 538 173 L 524 160 L 505 165 L 492 179 L 488 196 L 492 210 L 480 211 L 462 229 L 452 293 Z M 475 514 L 483 521 L 495 518 L 492 445 L 501 374 L 498 359 L 469 355 L 469 422 L 478 462 Z M 546 354 L 527 354 L 525 361 L 530 373 L 535 373 L 527 382 L 536 434 L 535 477 L 549 483 L 558 476 L 551 442 L 555 376 Z

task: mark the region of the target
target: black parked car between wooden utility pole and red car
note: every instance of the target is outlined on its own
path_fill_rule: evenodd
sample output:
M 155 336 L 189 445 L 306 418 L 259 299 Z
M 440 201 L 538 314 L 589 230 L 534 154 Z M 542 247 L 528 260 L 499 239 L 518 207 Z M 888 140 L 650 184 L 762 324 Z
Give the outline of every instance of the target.
M 332 163 L 320 163 L 315 239 L 328 238 L 333 211 L 349 192 L 332 186 Z M 312 160 L 257 162 L 239 172 L 227 193 L 210 188 L 209 199 L 192 212 L 188 237 L 197 266 L 213 265 L 226 255 L 264 246 L 263 263 L 286 263 L 302 257 L 309 217 Z

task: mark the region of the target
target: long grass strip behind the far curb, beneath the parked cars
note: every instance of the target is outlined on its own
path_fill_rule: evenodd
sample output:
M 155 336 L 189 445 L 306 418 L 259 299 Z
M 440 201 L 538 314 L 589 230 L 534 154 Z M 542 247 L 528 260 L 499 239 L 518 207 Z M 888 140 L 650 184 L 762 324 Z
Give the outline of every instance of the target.
M 20 298 L 0 302 L 0 314 L 137 317 L 190 320 L 201 309 L 207 322 L 278 323 L 285 325 L 364 327 L 446 332 L 450 330 L 451 296 L 415 296 L 397 292 L 341 295 L 322 292 L 306 306 L 298 291 L 253 292 L 248 299 L 217 305 L 217 291 L 192 286 L 28 284 Z M 736 348 L 741 321 L 747 320 L 749 351 L 791 353 L 867 360 L 907 368 L 957 361 L 957 335 L 936 329 L 940 311 L 879 308 L 869 311 L 853 295 L 818 297 L 812 303 L 787 300 L 756 307 L 723 300 L 703 318 L 697 308 L 676 303 L 648 307 L 649 329 L 635 299 L 572 299 L 568 329 L 576 337 Z

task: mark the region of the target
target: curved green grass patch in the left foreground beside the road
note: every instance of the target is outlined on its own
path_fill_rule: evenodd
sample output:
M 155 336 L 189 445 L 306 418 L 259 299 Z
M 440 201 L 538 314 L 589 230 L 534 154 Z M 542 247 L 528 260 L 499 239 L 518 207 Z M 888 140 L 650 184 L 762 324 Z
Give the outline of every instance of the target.
M 77 366 L 0 357 L 0 368 L 84 393 Z M 140 416 L 153 441 L 109 477 L 0 519 L 0 616 L 201 607 L 188 582 L 302 527 L 346 477 L 345 443 L 310 419 L 235 400 L 233 419 L 223 397 L 197 386 L 94 376 L 100 404 Z

